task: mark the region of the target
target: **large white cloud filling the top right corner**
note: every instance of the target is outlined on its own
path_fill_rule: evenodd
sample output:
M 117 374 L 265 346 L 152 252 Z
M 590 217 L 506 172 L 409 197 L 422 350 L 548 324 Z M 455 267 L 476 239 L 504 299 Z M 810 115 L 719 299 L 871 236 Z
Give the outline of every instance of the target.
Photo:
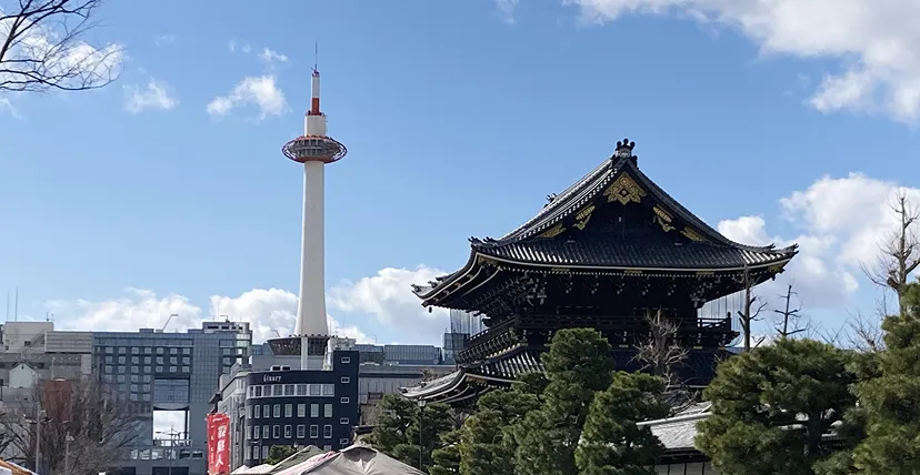
M 604 23 L 629 13 L 682 13 L 738 29 L 763 53 L 839 60 L 809 103 L 819 111 L 920 119 L 920 2 L 904 0 L 562 0 Z M 832 19 L 832 21 L 829 21 Z

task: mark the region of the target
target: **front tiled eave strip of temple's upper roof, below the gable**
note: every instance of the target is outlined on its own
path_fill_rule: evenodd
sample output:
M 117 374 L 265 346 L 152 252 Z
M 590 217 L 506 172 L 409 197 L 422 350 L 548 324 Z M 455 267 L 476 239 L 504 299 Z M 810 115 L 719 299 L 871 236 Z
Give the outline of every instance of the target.
M 484 255 L 514 262 L 558 266 L 578 266 L 590 262 L 594 266 L 631 269 L 740 269 L 789 257 L 786 250 L 751 251 L 710 243 L 674 245 L 576 240 L 559 245 L 553 241 L 540 240 L 479 244 L 473 249 Z

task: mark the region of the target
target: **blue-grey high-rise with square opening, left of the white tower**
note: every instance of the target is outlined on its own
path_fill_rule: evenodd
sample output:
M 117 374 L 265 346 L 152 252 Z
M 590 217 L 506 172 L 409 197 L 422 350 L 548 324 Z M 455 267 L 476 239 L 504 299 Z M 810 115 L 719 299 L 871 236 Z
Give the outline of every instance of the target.
M 120 397 L 139 407 L 136 446 L 126 454 L 124 473 L 190 475 L 207 472 L 204 417 L 220 375 L 249 360 L 249 323 L 203 322 L 186 333 L 93 333 L 93 373 Z M 179 415 L 169 431 L 154 433 L 154 412 Z

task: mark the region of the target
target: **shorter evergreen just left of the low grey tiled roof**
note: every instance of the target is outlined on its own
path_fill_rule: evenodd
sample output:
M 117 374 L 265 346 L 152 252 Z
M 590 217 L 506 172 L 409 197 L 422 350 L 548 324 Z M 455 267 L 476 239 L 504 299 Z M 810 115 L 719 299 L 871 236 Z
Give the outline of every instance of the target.
M 594 396 L 576 449 L 580 475 L 654 475 L 664 451 L 648 426 L 636 423 L 667 417 L 661 377 L 617 372 L 607 391 Z

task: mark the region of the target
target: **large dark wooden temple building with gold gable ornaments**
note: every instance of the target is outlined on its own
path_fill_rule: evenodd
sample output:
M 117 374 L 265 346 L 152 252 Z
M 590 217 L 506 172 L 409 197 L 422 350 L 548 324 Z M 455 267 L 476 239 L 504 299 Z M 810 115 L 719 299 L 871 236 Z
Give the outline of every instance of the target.
M 422 305 L 478 315 L 483 330 L 462 337 L 456 372 L 404 388 L 404 396 L 470 403 L 541 371 L 540 354 L 561 329 L 600 331 L 618 366 L 639 370 L 636 347 L 650 333 L 647 316 L 658 312 L 690 352 L 677 370 L 680 383 L 709 383 L 738 336 L 738 292 L 782 272 L 797 245 L 724 238 L 639 170 L 634 145 L 617 142 L 612 156 L 548 196 L 523 225 L 500 239 L 471 238 L 462 269 L 413 286 Z

